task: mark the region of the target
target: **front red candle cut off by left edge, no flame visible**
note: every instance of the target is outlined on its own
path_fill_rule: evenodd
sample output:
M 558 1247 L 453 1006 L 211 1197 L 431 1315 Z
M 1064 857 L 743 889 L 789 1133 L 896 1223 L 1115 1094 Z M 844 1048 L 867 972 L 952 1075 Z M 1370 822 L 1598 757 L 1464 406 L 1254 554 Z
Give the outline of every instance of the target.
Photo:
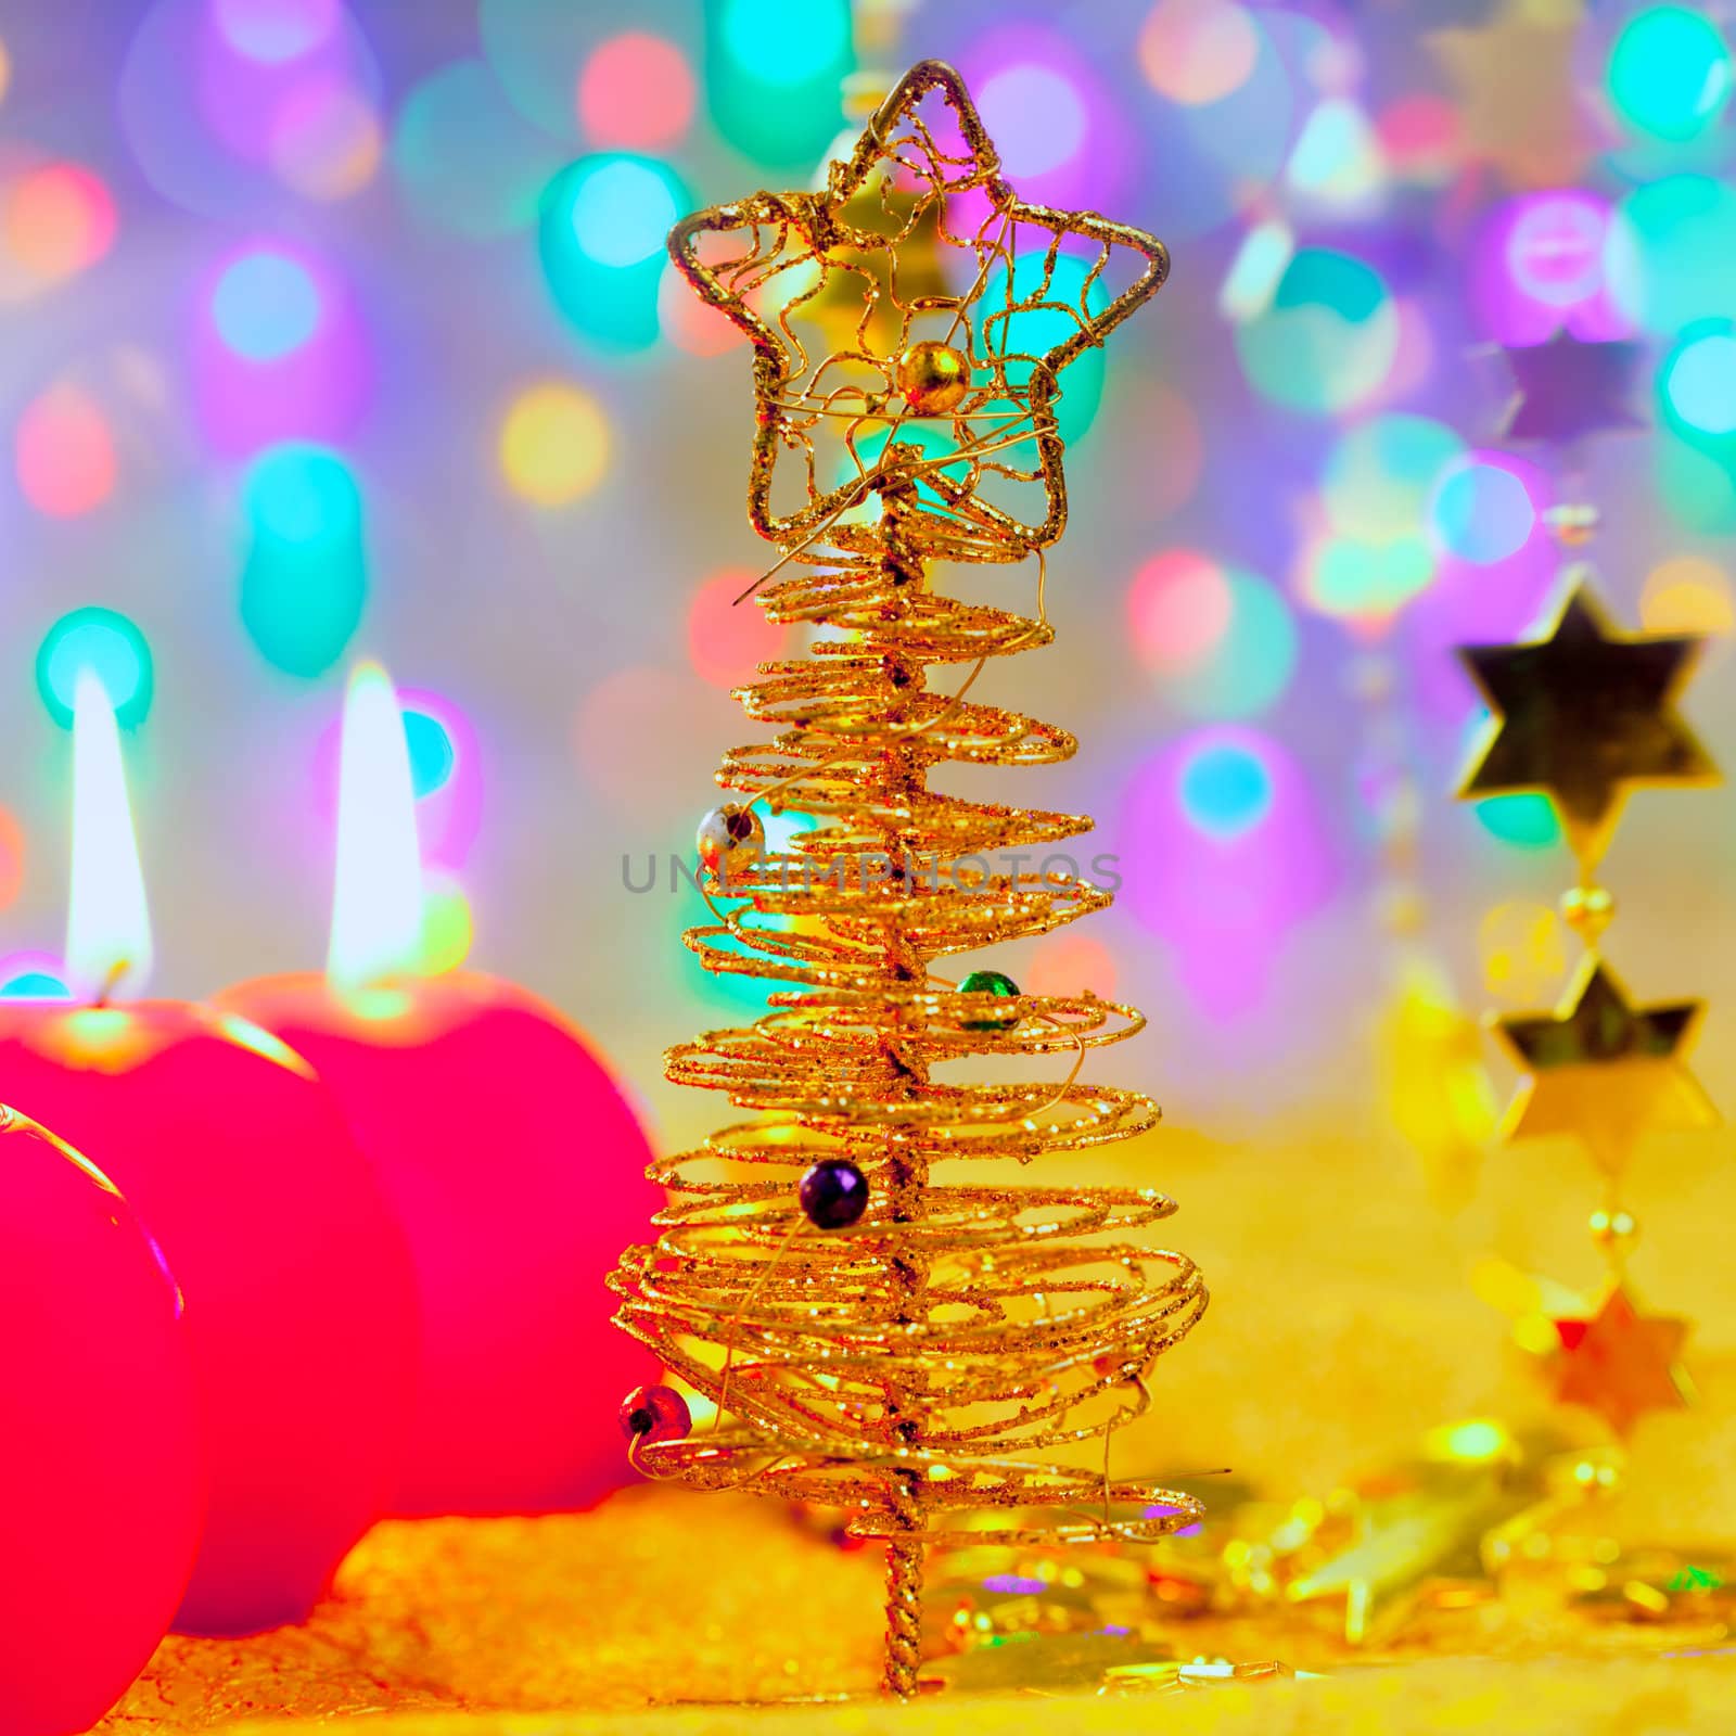
M 205 1512 L 174 1279 L 94 1165 L 0 1108 L 0 1736 L 89 1729 L 168 1630 Z

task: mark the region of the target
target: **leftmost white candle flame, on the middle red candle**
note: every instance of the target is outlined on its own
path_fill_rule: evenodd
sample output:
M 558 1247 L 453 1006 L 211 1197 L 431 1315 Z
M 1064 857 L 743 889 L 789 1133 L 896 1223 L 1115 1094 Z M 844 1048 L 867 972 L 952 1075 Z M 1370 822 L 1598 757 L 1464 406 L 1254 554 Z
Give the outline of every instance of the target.
M 151 974 L 151 910 L 127 802 L 120 727 L 102 677 L 73 682 L 73 870 L 66 906 L 66 974 L 99 1002 L 137 995 Z

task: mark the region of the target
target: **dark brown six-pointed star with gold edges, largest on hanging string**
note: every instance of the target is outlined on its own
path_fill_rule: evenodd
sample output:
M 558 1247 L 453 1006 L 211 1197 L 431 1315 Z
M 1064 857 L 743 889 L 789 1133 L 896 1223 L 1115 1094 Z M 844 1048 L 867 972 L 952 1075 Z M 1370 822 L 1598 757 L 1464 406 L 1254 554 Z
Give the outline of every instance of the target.
M 1594 866 L 1630 790 L 1719 779 L 1675 710 L 1703 642 L 1618 632 L 1575 569 L 1540 639 L 1460 646 L 1493 713 L 1460 797 L 1547 795 L 1581 866 Z

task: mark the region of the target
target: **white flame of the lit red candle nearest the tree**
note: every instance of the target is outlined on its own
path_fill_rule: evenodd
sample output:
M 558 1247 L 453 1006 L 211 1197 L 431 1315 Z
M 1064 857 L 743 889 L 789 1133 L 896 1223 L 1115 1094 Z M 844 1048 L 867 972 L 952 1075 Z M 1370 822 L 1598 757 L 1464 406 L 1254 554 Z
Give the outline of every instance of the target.
M 384 977 L 417 974 L 422 960 L 422 849 L 410 743 L 398 691 L 378 663 L 358 663 L 349 677 L 337 779 L 326 979 L 358 991 Z

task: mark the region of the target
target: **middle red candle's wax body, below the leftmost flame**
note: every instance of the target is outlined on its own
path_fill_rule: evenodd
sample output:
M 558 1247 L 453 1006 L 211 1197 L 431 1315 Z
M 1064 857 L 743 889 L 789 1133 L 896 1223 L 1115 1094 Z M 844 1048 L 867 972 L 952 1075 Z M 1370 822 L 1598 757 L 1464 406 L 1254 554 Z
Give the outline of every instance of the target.
M 175 1627 L 299 1621 L 391 1496 L 415 1373 L 403 1234 L 337 1106 L 184 1002 L 0 1002 L 0 1080 L 97 1154 L 186 1295 L 210 1507 Z M 104 1462 L 132 1444 L 115 1413 Z

